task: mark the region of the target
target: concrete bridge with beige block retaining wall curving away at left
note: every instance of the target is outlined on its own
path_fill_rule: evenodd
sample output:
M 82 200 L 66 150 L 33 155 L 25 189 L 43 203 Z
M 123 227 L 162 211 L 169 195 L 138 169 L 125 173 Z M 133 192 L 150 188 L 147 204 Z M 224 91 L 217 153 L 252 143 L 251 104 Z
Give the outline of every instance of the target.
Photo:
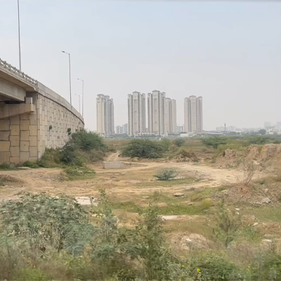
M 80 129 L 84 119 L 65 98 L 0 59 L 0 163 L 36 161 Z

